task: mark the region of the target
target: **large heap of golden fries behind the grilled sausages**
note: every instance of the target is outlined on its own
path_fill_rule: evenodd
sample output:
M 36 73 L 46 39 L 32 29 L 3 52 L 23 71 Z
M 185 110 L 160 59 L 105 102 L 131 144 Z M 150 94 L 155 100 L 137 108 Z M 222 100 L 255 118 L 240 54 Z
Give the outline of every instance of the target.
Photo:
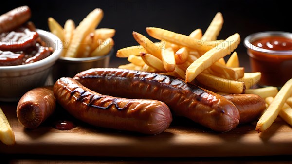
M 147 27 L 149 36 L 161 40 L 153 43 L 146 36 L 133 32 L 133 37 L 139 45 L 117 51 L 117 57 L 127 57 L 130 62 L 120 65 L 119 68 L 172 75 L 219 94 L 242 94 L 245 91 L 264 98 L 279 99 L 276 96 L 276 88 L 250 89 L 260 80 L 261 73 L 245 73 L 244 68 L 240 67 L 235 51 L 240 43 L 239 34 L 235 33 L 225 40 L 217 40 L 222 26 L 222 14 L 217 13 L 204 34 L 201 29 L 196 29 L 186 36 L 161 28 Z M 231 53 L 225 62 L 223 57 Z M 285 101 L 288 97 L 280 98 Z M 272 110 L 280 111 L 274 107 Z M 278 113 L 274 112 L 273 118 L 277 115 Z M 286 115 L 290 118 L 291 125 L 291 112 Z M 268 117 L 265 116 L 266 118 Z M 265 123 L 261 118 L 256 130 L 263 131 L 264 128 L 258 128 L 263 127 L 263 124 L 264 127 L 269 127 L 270 122 L 274 122 L 273 118 L 268 118 L 269 123 Z

